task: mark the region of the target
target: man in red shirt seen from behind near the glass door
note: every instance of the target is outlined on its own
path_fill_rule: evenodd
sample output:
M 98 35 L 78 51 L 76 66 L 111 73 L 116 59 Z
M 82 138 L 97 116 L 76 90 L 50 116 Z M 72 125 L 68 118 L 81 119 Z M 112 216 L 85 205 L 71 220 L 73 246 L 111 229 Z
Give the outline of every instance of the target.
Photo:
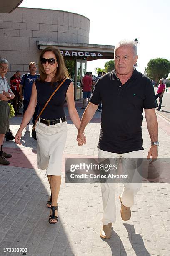
M 88 100 L 88 103 L 89 103 L 89 99 L 92 92 L 92 78 L 89 76 L 88 72 L 86 72 L 85 77 L 82 78 L 81 85 L 82 85 L 82 97 L 83 97 L 82 109 L 85 109 L 86 99 Z

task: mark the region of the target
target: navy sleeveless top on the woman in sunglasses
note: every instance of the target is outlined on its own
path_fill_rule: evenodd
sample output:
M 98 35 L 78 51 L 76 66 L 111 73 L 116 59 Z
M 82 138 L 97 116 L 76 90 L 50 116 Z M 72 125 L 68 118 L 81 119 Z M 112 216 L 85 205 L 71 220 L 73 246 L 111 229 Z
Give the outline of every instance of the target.
M 40 115 L 40 118 L 47 120 L 55 120 L 65 117 L 64 112 L 64 103 L 67 89 L 72 81 L 67 78 L 66 81 L 61 85 L 61 87 L 55 92 L 55 95 L 51 98 L 45 110 Z M 51 86 L 51 82 L 40 82 L 35 80 L 35 85 L 37 89 L 37 102 L 39 105 L 38 114 L 41 112 L 42 108 L 45 106 L 45 103 L 50 98 L 52 93 L 57 88 L 60 82 L 55 82 L 55 86 Z

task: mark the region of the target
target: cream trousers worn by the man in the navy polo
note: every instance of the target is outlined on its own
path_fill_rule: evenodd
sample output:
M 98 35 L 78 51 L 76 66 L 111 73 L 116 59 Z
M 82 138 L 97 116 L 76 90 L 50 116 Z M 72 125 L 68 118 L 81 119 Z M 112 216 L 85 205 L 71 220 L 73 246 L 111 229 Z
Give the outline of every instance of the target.
M 117 154 L 112 152 L 107 152 L 99 149 L 98 158 L 109 158 L 111 159 L 139 159 L 143 158 L 143 150 L 133 151 L 129 153 Z M 122 161 L 122 168 L 124 173 L 126 173 L 126 161 Z M 121 194 L 122 204 L 127 207 L 132 207 L 134 205 L 134 196 L 139 191 L 142 186 L 143 177 L 140 176 L 138 171 L 134 172 L 135 180 L 138 180 L 139 183 L 124 183 L 123 192 Z M 116 221 L 116 205 L 115 205 L 115 191 L 118 185 L 116 183 L 102 183 L 102 203 L 103 203 L 103 216 L 102 223 L 107 225 L 109 222 L 115 223 Z

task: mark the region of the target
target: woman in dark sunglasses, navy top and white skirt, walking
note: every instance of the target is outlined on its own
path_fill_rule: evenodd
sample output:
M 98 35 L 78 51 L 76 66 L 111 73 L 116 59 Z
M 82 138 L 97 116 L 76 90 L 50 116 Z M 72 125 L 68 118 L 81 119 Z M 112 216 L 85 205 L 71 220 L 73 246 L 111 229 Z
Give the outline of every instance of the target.
M 76 128 L 80 126 L 80 118 L 74 103 L 74 87 L 64 64 L 60 50 L 55 46 L 45 48 L 40 54 L 40 79 L 35 80 L 29 106 L 15 136 L 15 142 L 21 144 L 21 132 L 32 118 L 37 102 L 39 114 L 53 92 L 50 102 L 37 120 L 35 130 L 37 136 L 37 163 L 39 169 L 46 169 L 51 189 L 51 197 L 47 202 L 50 208 L 49 223 L 57 223 L 57 198 L 61 184 L 62 154 L 67 136 L 67 123 L 64 113 L 65 97 L 70 118 Z M 78 141 L 82 145 L 82 141 Z

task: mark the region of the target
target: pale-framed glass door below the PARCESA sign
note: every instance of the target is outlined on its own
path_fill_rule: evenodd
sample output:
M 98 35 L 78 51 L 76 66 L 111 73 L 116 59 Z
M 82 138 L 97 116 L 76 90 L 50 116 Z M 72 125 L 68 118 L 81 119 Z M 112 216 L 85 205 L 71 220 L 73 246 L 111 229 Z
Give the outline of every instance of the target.
M 75 100 L 81 100 L 82 99 L 82 88 L 81 88 L 81 80 L 82 77 L 85 76 L 86 72 L 86 61 L 80 61 L 78 60 L 76 63 L 76 88 L 75 88 Z

